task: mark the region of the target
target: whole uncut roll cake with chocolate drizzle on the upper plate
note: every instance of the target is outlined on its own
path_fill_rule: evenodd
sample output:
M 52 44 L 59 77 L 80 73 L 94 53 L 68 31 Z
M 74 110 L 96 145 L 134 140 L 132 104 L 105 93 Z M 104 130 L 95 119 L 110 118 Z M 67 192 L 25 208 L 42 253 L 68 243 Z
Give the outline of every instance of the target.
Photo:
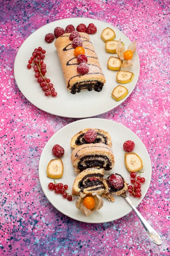
M 100 92 L 106 82 L 105 76 L 89 35 L 81 32 L 79 34 L 81 35 L 83 48 L 87 56 L 87 65 L 89 65 L 89 72 L 87 74 L 81 75 L 77 72 L 78 62 L 77 57 L 74 56 L 72 41 L 69 39 L 70 33 L 59 36 L 55 41 L 55 47 L 65 77 L 66 86 L 72 94 L 80 92 L 81 90 L 91 91 L 93 88 L 96 92 Z

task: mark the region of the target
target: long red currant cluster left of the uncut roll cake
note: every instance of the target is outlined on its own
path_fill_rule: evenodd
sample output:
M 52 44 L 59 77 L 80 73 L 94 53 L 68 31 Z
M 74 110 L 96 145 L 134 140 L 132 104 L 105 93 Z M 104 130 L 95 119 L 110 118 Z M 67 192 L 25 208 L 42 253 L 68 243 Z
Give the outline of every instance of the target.
M 42 49 L 42 47 L 35 48 L 31 58 L 28 61 L 27 67 L 28 69 L 31 69 L 31 64 L 34 64 L 33 69 L 35 71 L 35 78 L 37 78 L 37 82 L 45 92 L 45 95 L 52 95 L 52 97 L 56 97 L 57 92 L 54 89 L 54 85 L 50 83 L 50 79 L 44 77 L 47 72 L 46 64 L 43 61 L 45 58 L 45 53 L 46 51 Z

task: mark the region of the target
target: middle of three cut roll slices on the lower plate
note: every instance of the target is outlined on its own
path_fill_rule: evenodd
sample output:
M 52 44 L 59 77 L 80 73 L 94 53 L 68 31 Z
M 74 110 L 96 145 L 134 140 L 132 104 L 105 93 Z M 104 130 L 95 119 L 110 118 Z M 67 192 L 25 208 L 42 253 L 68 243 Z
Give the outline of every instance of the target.
M 72 151 L 71 161 L 75 173 L 87 168 L 103 168 L 109 171 L 114 165 L 114 156 L 111 148 L 103 143 L 84 144 Z

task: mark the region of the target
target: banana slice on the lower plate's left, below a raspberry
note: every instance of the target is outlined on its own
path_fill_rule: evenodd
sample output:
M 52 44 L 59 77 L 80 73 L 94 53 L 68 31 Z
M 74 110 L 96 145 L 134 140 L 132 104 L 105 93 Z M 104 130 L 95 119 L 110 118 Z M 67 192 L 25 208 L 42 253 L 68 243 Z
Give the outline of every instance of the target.
M 47 177 L 52 179 L 59 179 L 63 175 L 63 162 L 61 158 L 52 159 L 47 166 Z

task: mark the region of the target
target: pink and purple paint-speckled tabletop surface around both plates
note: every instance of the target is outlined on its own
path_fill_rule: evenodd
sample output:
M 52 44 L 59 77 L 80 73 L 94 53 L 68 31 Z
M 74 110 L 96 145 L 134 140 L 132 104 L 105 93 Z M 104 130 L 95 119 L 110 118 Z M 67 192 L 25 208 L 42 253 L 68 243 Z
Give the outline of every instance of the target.
M 160 247 L 150 242 L 133 212 L 109 223 L 81 223 L 54 209 L 41 189 L 41 151 L 54 132 L 75 119 L 29 103 L 17 88 L 13 64 L 33 31 L 71 17 L 102 20 L 137 39 L 137 86 L 122 105 L 98 117 L 130 128 L 148 150 L 153 174 L 138 210 L 161 234 Z M 168 1 L 5 0 L 0 20 L 0 255 L 170 255 Z

